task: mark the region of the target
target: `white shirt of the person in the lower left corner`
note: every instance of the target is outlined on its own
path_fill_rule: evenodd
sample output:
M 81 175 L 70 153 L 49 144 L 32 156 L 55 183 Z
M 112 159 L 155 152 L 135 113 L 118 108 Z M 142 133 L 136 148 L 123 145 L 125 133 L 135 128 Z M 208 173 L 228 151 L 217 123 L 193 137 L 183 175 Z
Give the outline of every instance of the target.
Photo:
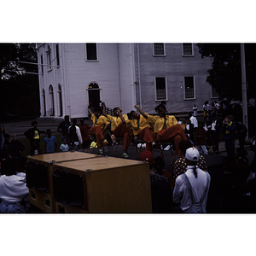
M 0 199 L 10 203 L 18 203 L 22 199 L 29 200 L 25 177 L 17 175 L 0 177 Z

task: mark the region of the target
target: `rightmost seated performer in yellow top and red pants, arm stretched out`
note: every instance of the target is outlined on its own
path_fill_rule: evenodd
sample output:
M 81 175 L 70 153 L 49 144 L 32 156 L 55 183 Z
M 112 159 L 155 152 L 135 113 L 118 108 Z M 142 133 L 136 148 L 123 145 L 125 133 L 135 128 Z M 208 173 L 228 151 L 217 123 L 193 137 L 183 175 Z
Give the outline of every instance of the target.
M 139 106 L 135 106 L 144 118 L 148 119 L 149 123 L 154 124 L 154 133 L 157 134 L 157 140 L 160 143 L 170 141 L 174 143 L 177 157 L 182 157 L 183 153 L 178 148 L 178 143 L 187 140 L 183 129 L 177 124 L 177 119 L 173 115 L 166 114 L 166 102 L 161 102 L 154 110 L 158 115 L 149 115 L 144 113 Z

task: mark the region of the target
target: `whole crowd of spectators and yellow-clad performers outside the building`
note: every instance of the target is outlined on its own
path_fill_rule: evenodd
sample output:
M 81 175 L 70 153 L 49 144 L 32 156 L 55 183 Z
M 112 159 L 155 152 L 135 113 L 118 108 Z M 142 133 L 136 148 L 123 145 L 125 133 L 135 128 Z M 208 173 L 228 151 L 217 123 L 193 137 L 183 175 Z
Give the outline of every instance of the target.
M 220 154 L 218 143 L 220 133 L 225 143 L 227 158 L 224 159 L 224 178 L 219 185 L 219 209 L 221 212 L 252 212 L 255 206 L 255 154 L 248 163 L 244 138 L 244 125 L 234 122 L 231 115 L 222 116 L 217 102 L 212 108 L 205 102 L 204 122 L 197 120 L 197 107 L 183 121 L 167 114 L 166 102 L 156 108 L 156 115 L 145 113 L 138 105 L 137 111 L 122 114 L 119 107 L 113 108 L 113 115 L 106 113 L 102 102 L 99 108 L 89 109 L 92 126 L 84 124 L 84 119 L 72 119 L 69 116 L 58 125 L 61 133 L 60 151 L 73 151 L 79 148 L 102 147 L 122 140 L 123 158 L 129 158 L 131 143 L 145 143 L 146 150 L 140 154 L 140 160 L 148 161 L 150 168 L 151 196 L 153 212 L 207 212 L 207 195 L 211 187 L 204 154 L 209 150 Z M 30 155 L 50 154 L 57 151 L 57 140 L 51 130 L 38 130 L 38 122 L 32 122 L 32 128 L 24 135 L 30 142 Z M 1 177 L 0 177 L 0 212 L 27 212 L 28 189 L 26 188 L 25 163 L 21 152 L 24 145 L 15 134 L 5 133 L 3 125 L 0 137 Z M 41 148 L 40 135 L 45 134 L 44 148 Z M 239 138 L 240 148 L 235 149 L 235 139 Z M 173 170 L 165 170 L 162 156 L 154 158 L 153 149 L 160 143 L 171 143 L 175 148 L 177 160 Z M 20 165 L 20 166 L 19 166 Z M 22 166 L 23 165 L 23 166 Z M 3 189 L 4 188 L 4 189 Z M 19 193 L 20 191 L 20 193 Z M 238 206 L 239 204 L 239 206 Z

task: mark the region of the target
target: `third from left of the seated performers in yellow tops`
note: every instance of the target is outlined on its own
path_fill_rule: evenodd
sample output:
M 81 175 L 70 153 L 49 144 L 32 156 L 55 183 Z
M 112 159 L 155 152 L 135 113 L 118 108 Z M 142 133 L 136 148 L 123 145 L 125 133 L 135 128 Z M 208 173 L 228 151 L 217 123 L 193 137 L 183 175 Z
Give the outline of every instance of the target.
M 135 106 L 136 108 L 137 106 Z M 143 117 L 142 114 L 138 114 L 136 111 L 131 110 L 131 117 L 133 119 L 128 119 L 126 124 L 131 127 L 135 140 L 139 138 L 146 142 L 146 150 L 152 151 L 154 146 L 154 133 L 151 130 L 151 126 L 148 119 Z M 146 113 L 147 114 L 147 113 Z

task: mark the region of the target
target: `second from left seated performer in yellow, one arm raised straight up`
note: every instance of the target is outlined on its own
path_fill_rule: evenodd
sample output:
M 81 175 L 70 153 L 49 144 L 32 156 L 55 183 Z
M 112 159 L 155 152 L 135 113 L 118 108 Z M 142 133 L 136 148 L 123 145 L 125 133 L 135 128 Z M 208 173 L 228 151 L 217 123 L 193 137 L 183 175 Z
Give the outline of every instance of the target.
M 103 115 L 107 117 L 107 121 L 111 123 L 111 131 L 115 137 L 123 138 L 123 150 L 122 156 L 129 158 L 127 154 L 128 148 L 131 143 L 131 136 L 133 135 L 131 128 L 127 127 L 125 120 L 128 120 L 127 114 L 122 115 L 119 107 L 113 108 L 113 116 L 106 113 L 106 105 L 102 102 Z

